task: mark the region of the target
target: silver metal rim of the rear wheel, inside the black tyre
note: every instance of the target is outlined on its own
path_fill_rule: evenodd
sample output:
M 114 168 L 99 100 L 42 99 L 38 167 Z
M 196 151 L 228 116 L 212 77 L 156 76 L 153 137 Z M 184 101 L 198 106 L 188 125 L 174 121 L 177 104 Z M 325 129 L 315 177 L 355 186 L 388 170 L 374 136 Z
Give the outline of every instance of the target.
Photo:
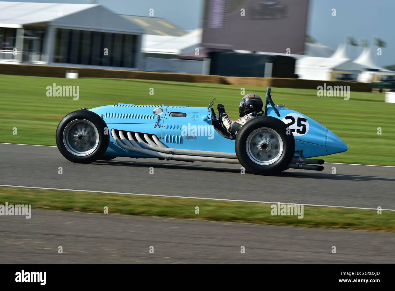
M 255 129 L 246 141 L 248 157 L 256 164 L 270 165 L 276 162 L 283 151 L 280 135 L 268 127 Z

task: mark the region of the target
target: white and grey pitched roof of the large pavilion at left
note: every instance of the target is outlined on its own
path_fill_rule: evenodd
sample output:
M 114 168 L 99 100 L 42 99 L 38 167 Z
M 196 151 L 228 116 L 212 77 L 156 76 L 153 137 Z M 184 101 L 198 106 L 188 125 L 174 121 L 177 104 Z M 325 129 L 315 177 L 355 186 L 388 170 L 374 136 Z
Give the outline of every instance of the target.
M 96 4 L 0 2 L 0 27 L 52 25 L 109 32 L 143 33 L 139 25 Z

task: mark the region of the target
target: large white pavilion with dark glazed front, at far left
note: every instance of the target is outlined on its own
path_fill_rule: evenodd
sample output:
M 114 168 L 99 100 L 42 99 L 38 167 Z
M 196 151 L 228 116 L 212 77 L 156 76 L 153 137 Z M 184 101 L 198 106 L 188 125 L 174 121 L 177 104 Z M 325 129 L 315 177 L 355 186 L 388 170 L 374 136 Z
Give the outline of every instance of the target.
M 0 2 L 0 62 L 139 69 L 143 31 L 101 5 Z

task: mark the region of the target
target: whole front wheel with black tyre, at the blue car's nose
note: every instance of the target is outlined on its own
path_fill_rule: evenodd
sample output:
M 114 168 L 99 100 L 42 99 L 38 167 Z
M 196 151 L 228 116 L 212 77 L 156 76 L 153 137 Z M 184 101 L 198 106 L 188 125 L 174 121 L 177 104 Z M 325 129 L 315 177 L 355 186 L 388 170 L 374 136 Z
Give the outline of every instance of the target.
M 107 125 L 92 111 L 71 112 L 56 129 L 58 150 L 73 163 L 89 164 L 102 158 L 109 141 Z

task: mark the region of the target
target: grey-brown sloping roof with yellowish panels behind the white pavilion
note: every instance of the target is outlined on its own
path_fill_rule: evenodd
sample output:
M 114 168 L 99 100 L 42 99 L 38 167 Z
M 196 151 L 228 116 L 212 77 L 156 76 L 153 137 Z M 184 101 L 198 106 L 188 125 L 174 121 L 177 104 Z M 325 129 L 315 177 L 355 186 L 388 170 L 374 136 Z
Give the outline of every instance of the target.
M 145 34 L 183 36 L 187 32 L 164 18 L 136 15 L 120 15 L 124 19 L 143 27 Z

